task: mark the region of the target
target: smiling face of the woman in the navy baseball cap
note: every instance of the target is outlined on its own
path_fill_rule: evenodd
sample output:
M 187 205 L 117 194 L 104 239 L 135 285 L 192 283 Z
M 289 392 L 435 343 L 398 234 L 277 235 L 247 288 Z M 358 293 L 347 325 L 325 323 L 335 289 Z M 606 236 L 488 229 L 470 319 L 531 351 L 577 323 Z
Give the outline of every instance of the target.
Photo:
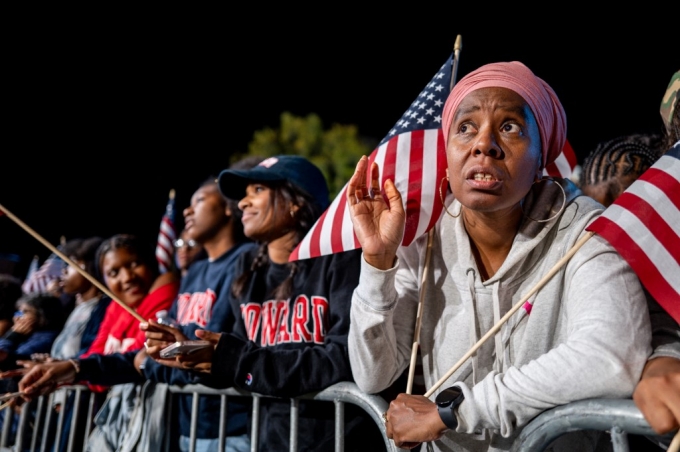
M 238 203 L 243 211 L 241 222 L 246 237 L 270 242 L 290 231 L 295 222 L 290 211 L 296 211 L 297 207 L 278 203 L 277 212 L 273 199 L 273 190 L 264 184 L 254 183 L 246 187 L 246 195 Z

